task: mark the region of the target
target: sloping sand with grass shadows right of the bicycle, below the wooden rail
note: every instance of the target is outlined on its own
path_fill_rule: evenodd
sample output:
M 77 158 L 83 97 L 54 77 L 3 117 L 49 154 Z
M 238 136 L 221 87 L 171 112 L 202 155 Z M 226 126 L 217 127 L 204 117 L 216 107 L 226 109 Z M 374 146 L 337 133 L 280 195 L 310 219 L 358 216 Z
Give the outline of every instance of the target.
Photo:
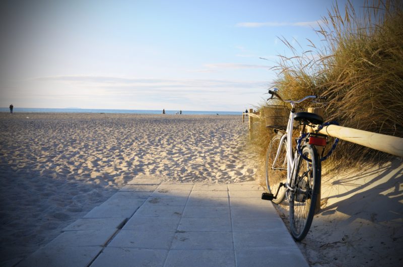
M 324 171 L 321 210 L 297 242 L 311 266 L 403 265 L 403 161 Z M 277 206 L 289 227 L 288 202 Z

